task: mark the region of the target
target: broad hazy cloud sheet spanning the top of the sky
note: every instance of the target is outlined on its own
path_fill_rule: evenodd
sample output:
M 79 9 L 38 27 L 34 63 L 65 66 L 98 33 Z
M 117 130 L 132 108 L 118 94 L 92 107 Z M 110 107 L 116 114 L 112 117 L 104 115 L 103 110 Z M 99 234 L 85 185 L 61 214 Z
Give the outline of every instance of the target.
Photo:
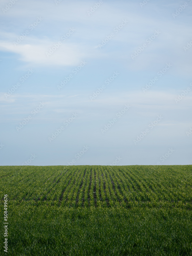
M 121 5 L 116 1 L 112 4 L 104 1 L 91 16 L 88 16 L 87 10 L 92 6 L 89 1 L 61 1 L 56 6 L 54 1 L 29 0 L 26 3 L 20 0 L 5 17 L 9 17 L 12 23 L 17 18 L 17 26 L 23 29 L 21 32 L 24 32 L 39 15 L 43 17 L 43 21 L 31 32 L 35 36 L 32 37 L 30 34 L 30 37 L 27 36 L 25 41 L 16 47 L 13 40 L 20 36 L 19 32 L 11 39 L 12 35 L 8 35 L 5 27 L 5 33 L 1 35 L 4 34 L 4 38 L 7 39 L 1 41 L 0 49 L 18 54 L 19 60 L 31 65 L 76 66 L 84 58 L 106 59 L 110 56 L 113 59 L 126 59 L 129 70 L 154 70 L 167 61 L 172 61 L 177 73 L 190 74 L 192 66 L 188 55 L 191 54 L 191 49 L 186 54 L 183 46 L 191 38 L 191 28 L 185 21 L 178 25 L 173 19 L 171 13 L 178 4 L 173 2 L 167 6 L 164 2 L 158 6 L 158 3 L 149 2 L 144 12 L 144 9 L 134 1 L 120 2 Z M 2 6 L 4 4 L 5 1 Z M 166 12 L 167 16 L 162 20 L 163 12 Z M 126 26 L 115 34 L 107 46 L 99 50 L 98 44 L 125 18 L 129 21 Z M 58 42 L 62 33 L 67 33 L 70 26 L 76 29 L 74 35 L 47 57 L 46 52 Z M 155 29 L 159 29 L 161 34 L 132 60 L 131 54 L 146 43 L 146 39 L 154 34 Z M 47 36 L 42 39 L 42 35 Z

